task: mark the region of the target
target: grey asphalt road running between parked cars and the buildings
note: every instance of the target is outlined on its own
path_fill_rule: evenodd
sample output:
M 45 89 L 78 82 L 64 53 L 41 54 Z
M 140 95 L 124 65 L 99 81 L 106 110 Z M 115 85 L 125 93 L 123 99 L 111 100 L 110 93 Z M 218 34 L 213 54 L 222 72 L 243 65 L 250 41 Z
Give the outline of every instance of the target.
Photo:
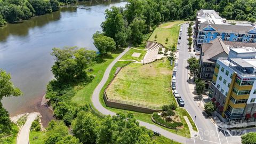
M 182 38 L 180 39 L 180 52 L 178 60 L 178 72 L 177 72 L 177 83 L 176 89 L 179 95 L 185 101 L 185 108 L 188 110 L 191 117 L 194 119 L 198 130 L 199 137 L 196 139 L 196 143 L 241 143 L 238 137 L 226 137 L 228 135 L 226 131 L 221 131 L 215 124 L 210 121 L 209 118 L 205 117 L 201 108 L 198 107 L 195 99 L 189 90 L 188 85 L 188 63 L 187 59 L 192 54 L 188 52 L 188 41 L 187 41 L 187 28 L 188 24 L 183 24 Z M 196 116 L 196 118 L 195 118 Z

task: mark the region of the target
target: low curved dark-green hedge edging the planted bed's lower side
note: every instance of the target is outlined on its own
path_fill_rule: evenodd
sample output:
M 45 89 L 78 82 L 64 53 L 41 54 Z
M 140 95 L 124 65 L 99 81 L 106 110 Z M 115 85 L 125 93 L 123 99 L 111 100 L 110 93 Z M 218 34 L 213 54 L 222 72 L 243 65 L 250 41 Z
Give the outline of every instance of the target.
M 183 125 L 181 122 L 173 122 L 173 123 L 166 122 L 157 113 L 153 113 L 152 117 L 153 117 L 153 119 L 155 120 L 155 122 L 157 124 L 164 125 L 164 126 L 170 128 L 170 129 L 176 129 L 176 127 L 180 127 L 180 126 Z

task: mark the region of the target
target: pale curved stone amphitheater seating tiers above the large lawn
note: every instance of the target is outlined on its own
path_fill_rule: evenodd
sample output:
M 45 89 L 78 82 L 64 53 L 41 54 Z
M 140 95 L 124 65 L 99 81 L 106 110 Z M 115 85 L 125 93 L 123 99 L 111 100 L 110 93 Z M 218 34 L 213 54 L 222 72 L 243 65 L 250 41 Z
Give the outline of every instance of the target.
M 163 45 L 148 41 L 146 44 L 147 53 L 143 58 L 143 63 L 150 63 L 156 61 L 158 50 L 160 47 L 163 47 Z

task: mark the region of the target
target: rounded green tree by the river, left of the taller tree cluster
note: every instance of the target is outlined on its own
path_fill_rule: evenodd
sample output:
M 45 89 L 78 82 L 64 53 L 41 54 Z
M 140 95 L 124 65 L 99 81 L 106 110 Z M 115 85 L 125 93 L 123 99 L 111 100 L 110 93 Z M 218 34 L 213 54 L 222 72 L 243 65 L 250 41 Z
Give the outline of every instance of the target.
M 116 43 L 113 38 L 100 34 L 99 31 L 93 35 L 94 45 L 102 55 L 116 49 Z

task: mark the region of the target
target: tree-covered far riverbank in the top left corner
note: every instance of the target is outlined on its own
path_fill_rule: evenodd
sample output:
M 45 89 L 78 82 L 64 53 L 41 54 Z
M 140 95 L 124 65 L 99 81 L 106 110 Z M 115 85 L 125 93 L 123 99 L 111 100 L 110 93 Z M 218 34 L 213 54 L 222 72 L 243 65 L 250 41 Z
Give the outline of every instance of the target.
M 27 20 L 35 15 L 52 13 L 58 11 L 61 5 L 76 2 L 76 0 L 0 0 L 0 26 L 7 22 Z

